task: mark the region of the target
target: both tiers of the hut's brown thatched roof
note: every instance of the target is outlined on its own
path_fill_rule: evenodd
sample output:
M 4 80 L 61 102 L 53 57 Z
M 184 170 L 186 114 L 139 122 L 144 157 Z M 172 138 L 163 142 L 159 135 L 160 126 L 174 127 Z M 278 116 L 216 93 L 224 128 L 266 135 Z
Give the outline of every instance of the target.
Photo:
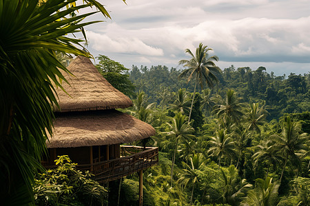
M 63 73 L 67 93 L 57 88 L 54 133 L 48 148 L 75 148 L 129 143 L 155 135 L 149 124 L 115 108 L 132 106 L 132 100 L 103 78 L 89 58 L 76 57 Z

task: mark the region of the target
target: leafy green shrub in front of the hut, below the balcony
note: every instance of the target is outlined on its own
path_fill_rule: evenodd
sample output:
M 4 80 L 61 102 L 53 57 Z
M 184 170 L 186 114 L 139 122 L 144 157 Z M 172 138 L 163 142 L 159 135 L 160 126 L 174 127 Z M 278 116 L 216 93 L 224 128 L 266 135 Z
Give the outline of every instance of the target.
M 92 180 L 93 174 L 76 170 L 67 155 L 58 156 L 57 168 L 37 174 L 34 185 L 36 205 L 105 205 L 107 190 Z

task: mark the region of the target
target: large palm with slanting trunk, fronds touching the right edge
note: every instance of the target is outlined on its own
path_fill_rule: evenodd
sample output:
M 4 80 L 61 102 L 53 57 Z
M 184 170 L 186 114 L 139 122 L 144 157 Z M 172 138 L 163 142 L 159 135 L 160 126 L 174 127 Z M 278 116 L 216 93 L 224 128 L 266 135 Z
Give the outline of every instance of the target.
M 291 121 L 291 117 L 286 118 L 286 122 L 282 126 L 282 135 L 271 135 L 272 139 L 276 144 L 273 146 L 274 149 L 278 150 L 285 157 L 285 163 L 280 176 L 280 183 L 282 180 L 283 172 L 287 165 L 287 160 L 290 158 L 292 163 L 300 165 L 300 157 L 302 153 L 307 149 L 305 144 L 309 141 L 309 135 L 307 133 L 300 133 L 300 124 Z

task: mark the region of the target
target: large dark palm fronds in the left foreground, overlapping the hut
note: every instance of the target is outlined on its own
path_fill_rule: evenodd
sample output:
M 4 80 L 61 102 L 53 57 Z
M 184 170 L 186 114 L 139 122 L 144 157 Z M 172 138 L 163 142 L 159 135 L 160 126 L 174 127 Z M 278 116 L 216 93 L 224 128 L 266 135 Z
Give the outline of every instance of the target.
M 52 133 L 54 88 L 67 71 L 54 51 L 89 56 L 76 48 L 90 12 L 69 14 L 89 5 L 61 10 L 76 0 L 0 0 L 0 194 L 4 205 L 32 200 L 33 172 L 41 168 L 45 140 Z M 23 188 L 23 191 L 21 191 Z M 23 194 L 21 196 L 20 194 Z M 14 202 L 13 202 L 14 201 Z

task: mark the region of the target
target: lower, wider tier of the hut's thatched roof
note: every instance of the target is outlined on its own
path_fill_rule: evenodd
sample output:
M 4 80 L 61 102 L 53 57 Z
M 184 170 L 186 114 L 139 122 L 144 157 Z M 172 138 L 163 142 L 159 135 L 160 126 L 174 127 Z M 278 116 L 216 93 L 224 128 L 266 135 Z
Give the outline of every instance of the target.
M 121 144 L 155 135 L 154 128 L 115 110 L 66 113 L 56 117 L 48 148 Z

